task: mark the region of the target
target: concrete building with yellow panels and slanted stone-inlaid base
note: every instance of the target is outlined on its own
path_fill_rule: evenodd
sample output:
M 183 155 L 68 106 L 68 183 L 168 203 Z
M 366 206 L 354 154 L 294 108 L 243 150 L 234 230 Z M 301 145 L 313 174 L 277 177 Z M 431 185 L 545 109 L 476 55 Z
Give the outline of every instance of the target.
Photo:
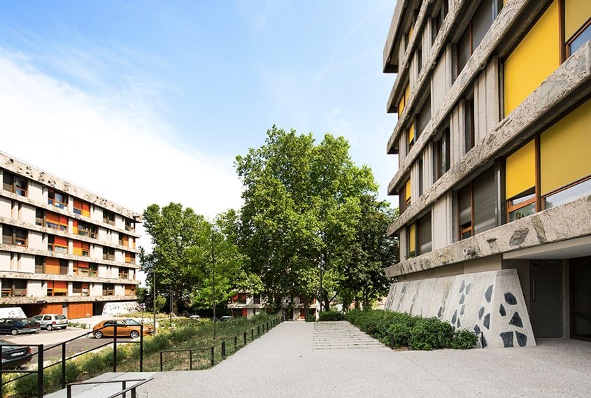
M 386 307 L 486 346 L 591 339 L 591 2 L 399 0 Z

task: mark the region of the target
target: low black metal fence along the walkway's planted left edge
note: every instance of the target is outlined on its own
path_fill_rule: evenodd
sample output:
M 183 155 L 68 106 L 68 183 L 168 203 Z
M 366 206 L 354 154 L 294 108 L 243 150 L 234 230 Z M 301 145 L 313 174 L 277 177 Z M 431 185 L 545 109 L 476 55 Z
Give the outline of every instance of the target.
M 213 346 L 210 346 L 208 348 L 190 348 L 186 350 L 161 350 L 159 352 L 159 369 L 160 371 L 164 371 L 164 360 L 166 359 L 166 355 L 176 353 L 188 354 L 189 370 L 193 370 L 194 368 L 204 369 L 205 367 L 213 367 L 216 363 L 216 360 L 220 362 L 224 360 L 225 357 L 227 357 L 227 355 L 236 353 L 236 351 L 238 351 L 240 348 L 246 346 L 246 344 L 248 343 L 248 334 L 250 334 L 250 341 L 252 342 L 259 336 L 261 336 L 261 334 L 269 332 L 270 329 L 279 325 L 281 322 L 283 322 L 283 320 L 283 316 L 276 316 L 274 318 L 271 318 L 271 320 L 267 320 L 265 322 L 260 323 L 259 325 L 250 327 L 250 330 L 247 329 L 241 334 L 236 334 L 236 336 L 234 337 L 222 341 L 217 341 Z M 176 356 L 176 360 L 180 359 L 180 357 Z M 198 362 L 198 366 L 194 367 L 196 361 Z

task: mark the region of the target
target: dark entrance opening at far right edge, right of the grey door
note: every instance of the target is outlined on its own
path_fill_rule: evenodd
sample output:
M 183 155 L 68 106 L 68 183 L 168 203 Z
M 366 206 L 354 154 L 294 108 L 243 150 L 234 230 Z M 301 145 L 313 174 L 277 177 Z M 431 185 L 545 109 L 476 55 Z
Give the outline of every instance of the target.
M 571 267 L 571 336 L 591 341 L 591 257 L 569 260 Z

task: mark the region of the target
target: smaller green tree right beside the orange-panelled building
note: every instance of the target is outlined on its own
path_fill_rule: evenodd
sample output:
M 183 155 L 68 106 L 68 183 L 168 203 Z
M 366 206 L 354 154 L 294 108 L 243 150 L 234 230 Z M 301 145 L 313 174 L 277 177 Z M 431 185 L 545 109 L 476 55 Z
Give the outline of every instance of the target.
M 202 280 L 202 263 L 194 256 L 195 248 L 203 241 L 208 222 L 192 208 L 171 203 L 162 208 L 157 204 L 143 212 L 143 225 L 151 236 L 152 250 L 140 248 L 142 269 L 147 273 L 146 283 L 157 294 L 167 294 L 172 286 L 173 311 L 190 299 Z M 153 276 L 156 272 L 156 285 Z

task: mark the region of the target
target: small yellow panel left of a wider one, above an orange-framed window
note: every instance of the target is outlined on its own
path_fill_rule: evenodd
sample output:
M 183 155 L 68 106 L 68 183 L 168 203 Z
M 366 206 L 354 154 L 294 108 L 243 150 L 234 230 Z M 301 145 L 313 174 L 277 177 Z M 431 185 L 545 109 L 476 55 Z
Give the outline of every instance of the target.
M 506 199 L 536 185 L 536 143 L 529 141 L 506 160 Z

